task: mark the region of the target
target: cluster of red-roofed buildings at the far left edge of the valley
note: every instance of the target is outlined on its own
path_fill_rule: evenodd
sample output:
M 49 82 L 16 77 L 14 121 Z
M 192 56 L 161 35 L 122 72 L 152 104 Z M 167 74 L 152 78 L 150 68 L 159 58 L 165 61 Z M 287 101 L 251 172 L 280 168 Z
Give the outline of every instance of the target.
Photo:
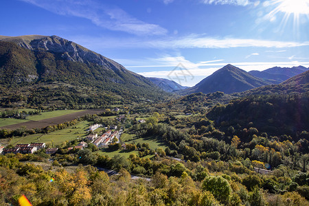
M 16 144 L 14 148 L 0 148 L 0 154 L 5 155 L 8 153 L 21 153 L 21 154 L 32 154 L 36 150 L 45 148 L 45 143 L 32 143 L 32 144 Z

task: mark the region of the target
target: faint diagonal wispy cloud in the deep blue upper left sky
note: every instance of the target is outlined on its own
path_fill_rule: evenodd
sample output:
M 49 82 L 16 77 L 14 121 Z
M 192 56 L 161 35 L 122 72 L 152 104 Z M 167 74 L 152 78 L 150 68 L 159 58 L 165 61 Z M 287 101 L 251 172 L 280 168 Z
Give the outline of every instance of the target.
M 162 35 L 168 31 L 157 24 L 140 21 L 121 8 L 93 0 L 21 0 L 60 15 L 89 19 L 108 30 L 136 35 Z

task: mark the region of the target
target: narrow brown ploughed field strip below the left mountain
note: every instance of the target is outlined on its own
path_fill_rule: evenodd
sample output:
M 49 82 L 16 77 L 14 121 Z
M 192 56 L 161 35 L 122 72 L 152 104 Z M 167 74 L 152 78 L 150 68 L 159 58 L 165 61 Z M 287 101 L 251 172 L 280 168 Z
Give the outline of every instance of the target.
M 52 117 L 49 119 L 42 119 L 38 121 L 32 121 L 29 122 L 23 122 L 19 124 L 12 124 L 8 126 L 2 126 L 1 128 L 8 128 L 10 130 L 14 130 L 16 128 L 20 128 L 21 126 L 25 126 L 27 128 L 44 128 L 45 126 L 49 125 L 55 125 L 55 124 L 62 124 L 63 122 L 69 122 L 73 119 L 76 119 L 77 117 L 82 117 L 84 115 L 95 115 L 98 113 L 102 113 L 104 110 L 86 110 L 86 111 L 80 111 L 77 113 L 71 113 L 68 115 L 62 115 L 60 117 Z

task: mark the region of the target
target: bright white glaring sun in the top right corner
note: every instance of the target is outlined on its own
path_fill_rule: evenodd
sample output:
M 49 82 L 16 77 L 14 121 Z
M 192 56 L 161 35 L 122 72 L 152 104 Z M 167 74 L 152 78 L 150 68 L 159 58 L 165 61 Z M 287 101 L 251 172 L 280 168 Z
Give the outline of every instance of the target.
M 286 14 L 309 14 L 309 0 L 275 0 L 277 9 Z

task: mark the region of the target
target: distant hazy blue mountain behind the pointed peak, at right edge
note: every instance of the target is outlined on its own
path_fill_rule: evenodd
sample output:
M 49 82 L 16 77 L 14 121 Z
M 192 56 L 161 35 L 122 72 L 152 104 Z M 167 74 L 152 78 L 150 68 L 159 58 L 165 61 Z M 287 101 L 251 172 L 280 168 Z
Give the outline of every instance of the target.
M 298 67 L 273 67 L 270 69 L 266 69 L 264 71 L 249 71 L 249 73 L 257 78 L 262 78 L 266 82 L 270 82 L 272 84 L 279 84 L 284 82 L 288 78 L 298 75 L 299 73 L 303 73 L 304 71 L 308 71 L 308 68 L 303 66 Z

